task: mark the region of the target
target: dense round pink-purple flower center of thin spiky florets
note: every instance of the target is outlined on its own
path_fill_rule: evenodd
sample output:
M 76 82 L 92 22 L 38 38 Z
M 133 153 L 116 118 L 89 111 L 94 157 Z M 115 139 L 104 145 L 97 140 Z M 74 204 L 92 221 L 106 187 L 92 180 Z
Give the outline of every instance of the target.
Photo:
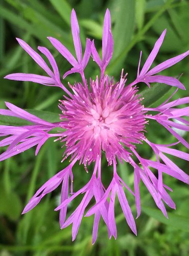
M 60 106 L 67 129 L 63 139 L 67 156 L 90 164 L 104 151 L 109 164 L 115 157 L 127 161 L 128 149 L 144 137 L 146 120 L 136 89 L 124 86 L 122 78 L 115 84 L 108 78 L 101 84 L 92 81 L 91 91 L 75 84 L 74 98 Z

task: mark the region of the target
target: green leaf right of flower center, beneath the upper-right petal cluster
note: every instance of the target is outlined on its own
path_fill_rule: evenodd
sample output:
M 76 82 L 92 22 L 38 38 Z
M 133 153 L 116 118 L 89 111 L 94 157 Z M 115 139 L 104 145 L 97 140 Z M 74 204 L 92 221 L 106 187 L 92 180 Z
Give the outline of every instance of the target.
M 163 97 L 166 93 L 168 93 L 172 89 L 171 86 L 167 86 L 166 84 L 156 83 L 151 88 L 147 88 L 140 93 L 140 96 L 144 98 L 142 103 L 147 108 Z

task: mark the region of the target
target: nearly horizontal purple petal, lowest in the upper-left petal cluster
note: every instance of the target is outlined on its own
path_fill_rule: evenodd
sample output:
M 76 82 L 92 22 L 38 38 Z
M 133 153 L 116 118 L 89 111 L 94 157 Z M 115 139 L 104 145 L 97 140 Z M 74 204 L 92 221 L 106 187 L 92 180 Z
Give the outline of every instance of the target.
M 55 84 L 55 80 L 48 76 L 41 76 L 35 74 L 15 73 L 5 76 L 4 78 L 16 81 L 31 81 L 42 84 Z

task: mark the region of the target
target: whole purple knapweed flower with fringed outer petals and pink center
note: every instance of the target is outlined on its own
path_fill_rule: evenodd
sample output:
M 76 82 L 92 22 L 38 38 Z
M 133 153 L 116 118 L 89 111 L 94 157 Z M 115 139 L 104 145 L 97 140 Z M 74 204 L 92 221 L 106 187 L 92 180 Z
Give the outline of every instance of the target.
M 117 236 L 114 216 L 116 195 L 129 227 L 136 234 L 136 225 L 125 195 L 125 189 L 135 197 L 137 217 L 140 215 L 140 181 L 146 185 L 163 215 L 168 217 L 164 203 L 171 208 L 175 208 L 175 204 L 167 192 L 167 189 L 171 190 L 171 188 L 163 183 L 162 174 L 166 173 L 180 181 L 189 183 L 189 176 L 164 154 L 166 153 L 189 160 L 189 154 L 172 148 L 177 143 L 182 143 L 185 147 L 189 148 L 188 142 L 175 130 L 189 131 L 189 122 L 183 118 L 183 116 L 189 115 L 189 107 L 178 108 L 182 104 L 189 103 L 189 97 L 174 101 L 170 101 L 170 97 L 166 102 L 163 102 L 156 108 L 145 108 L 141 103 L 143 98 L 140 98 L 137 94 L 136 87 L 136 84 L 139 82 L 145 82 L 149 87 L 150 83 L 159 82 L 176 87 L 176 91 L 178 88 L 185 89 L 178 79 L 157 73 L 179 62 L 189 54 L 189 51 L 168 59 L 155 68 L 150 69 L 166 34 L 166 30 L 164 30 L 156 41 L 152 52 L 141 70 L 140 53 L 136 79 L 126 85 L 127 75 L 124 75 L 123 70 L 120 81 L 117 82 L 114 82 L 113 78 L 105 74 L 105 69 L 113 54 L 113 38 L 109 10 L 106 11 L 104 18 L 102 58 L 96 50 L 94 40 L 91 41 L 88 38 L 86 39 L 86 48 L 82 55 L 79 25 L 74 10 L 71 16 L 71 26 L 77 58 L 60 41 L 49 37 L 52 45 L 73 66 L 72 69 L 64 74 L 63 78 L 71 73 L 77 72 L 81 74 L 82 82 L 75 82 L 74 85 L 68 83 L 69 90 L 62 84 L 56 61 L 48 49 L 38 47 L 38 50 L 48 58 L 52 68 L 49 68 L 43 58 L 25 41 L 17 39 L 20 46 L 37 62 L 47 75 L 18 73 L 7 75 L 5 78 L 19 81 L 33 81 L 44 84 L 45 86 L 60 87 L 66 95 L 60 100 L 60 121 L 56 123 L 42 120 L 6 102 L 8 110 L 0 110 L 1 115 L 22 118 L 30 121 L 31 125 L 0 126 L 1 136 L 5 137 L 0 145 L 9 145 L 7 151 L 0 155 L 0 160 L 17 155 L 35 145 L 37 145 L 37 155 L 40 147 L 50 137 L 55 137 L 55 141 L 63 143 L 65 151 L 62 161 L 69 158 L 69 165 L 37 190 L 23 210 L 23 214 L 34 208 L 46 194 L 62 184 L 61 202 L 55 209 L 60 210 L 61 228 L 73 224 L 72 233 L 73 240 L 75 240 L 85 209 L 93 198 L 96 203 L 88 209 L 85 216 L 95 215 L 92 231 L 92 243 L 95 243 L 101 217 L 107 226 L 109 238 L 111 236 L 116 238 Z M 87 81 L 85 79 L 84 69 L 91 55 L 100 67 L 101 76 L 100 78 L 97 76 L 95 80 L 90 79 Z M 72 90 L 72 93 L 70 90 Z M 148 134 L 144 134 L 148 119 L 153 119 L 164 126 L 176 138 L 175 143 L 161 145 L 149 141 Z M 63 129 L 61 130 L 63 132 L 55 133 L 54 128 L 57 128 L 58 131 Z M 141 157 L 137 153 L 136 145 L 138 143 L 147 143 L 152 148 L 156 156 L 156 161 Z M 113 178 L 106 188 L 101 181 L 102 152 L 105 154 L 107 164 L 113 166 Z M 138 159 L 138 161 L 135 159 Z M 118 161 L 126 161 L 133 166 L 134 191 L 128 187 L 126 184 L 127 181 L 123 181 L 119 174 L 117 174 Z M 76 162 L 83 164 L 86 171 L 87 165 L 90 165 L 92 162 L 95 162 L 95 167 L 89 182 L 73 193 L 74 176 L 72 169 Z M 152 168 L 157 170 L 158 175 L 154 175 Z M 107 170 L 106 175 L 108 175 Z M 69 191 L 71 194 L 70 197 Z M 83 195 L 81 203 L 73 214 L 66 219 L 67 205 L 80 194 Z

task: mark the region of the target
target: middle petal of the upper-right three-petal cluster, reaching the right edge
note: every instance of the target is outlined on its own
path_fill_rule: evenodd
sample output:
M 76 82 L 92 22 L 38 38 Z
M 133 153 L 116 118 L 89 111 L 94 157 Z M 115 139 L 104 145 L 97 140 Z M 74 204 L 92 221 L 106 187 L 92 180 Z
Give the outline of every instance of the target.
M 160 63 L 159 65 L 157 65 L 155 68 L 151 69 L 146 75 L 151 76 L 156 73 L 159 73 L 160 71 L 162 71 L 164 69 L 168 69 L 169 67 L 175 65 L 177 62 L 179 62 L 180 60 L 185 58 L 188 54 L 189 54 L 189 50 L 176 56 L 176 57 L 168 59 L 168 60 Z

